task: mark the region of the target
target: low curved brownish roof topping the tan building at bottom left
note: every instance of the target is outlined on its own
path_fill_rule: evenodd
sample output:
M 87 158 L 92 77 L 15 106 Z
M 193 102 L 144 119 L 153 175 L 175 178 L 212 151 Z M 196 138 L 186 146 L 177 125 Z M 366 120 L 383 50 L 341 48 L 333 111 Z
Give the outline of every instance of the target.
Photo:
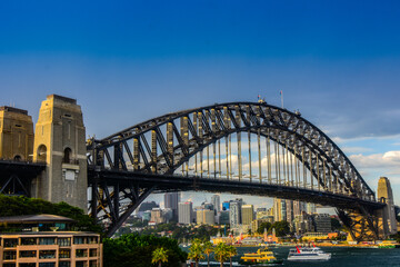
M 74 222 L 76 220 L 58 215 L 21 215 L 0 217 L 0 222 L 4 224 L 31 224 L 31 222 Z

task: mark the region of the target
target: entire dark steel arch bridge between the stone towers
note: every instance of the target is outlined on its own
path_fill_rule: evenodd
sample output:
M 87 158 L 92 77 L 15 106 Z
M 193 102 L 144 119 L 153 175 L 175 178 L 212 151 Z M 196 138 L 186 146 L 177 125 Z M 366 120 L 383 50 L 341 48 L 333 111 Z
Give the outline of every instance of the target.
M 266 102 L 216 103 L 91 139 L 87 148 L 91 215 L 107 222 L 109 235 L 151 192 L 171 190 L 329 205 L 354 239 L 379 235 L 377 211 L 384 204 L 300 112 Z

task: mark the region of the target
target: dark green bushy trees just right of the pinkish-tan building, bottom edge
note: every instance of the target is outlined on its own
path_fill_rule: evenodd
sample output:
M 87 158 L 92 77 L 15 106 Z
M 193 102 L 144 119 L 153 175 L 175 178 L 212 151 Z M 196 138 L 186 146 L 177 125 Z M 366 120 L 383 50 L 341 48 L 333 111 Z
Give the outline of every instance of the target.
M 122 235 L 103 239 L 103 261 L 107 267 L 149 267 L 152 253 L 158 248 L 168 249 L 168 263 L 163 267 L 181 267 L 187 259 L 178 241 L 167 237 Z

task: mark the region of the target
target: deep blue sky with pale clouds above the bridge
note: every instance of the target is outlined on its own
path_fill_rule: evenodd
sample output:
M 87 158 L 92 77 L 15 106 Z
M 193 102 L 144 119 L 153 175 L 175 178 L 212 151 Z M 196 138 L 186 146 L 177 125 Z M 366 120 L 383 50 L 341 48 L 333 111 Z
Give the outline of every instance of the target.
M 399 1 L 0 1 L 0 105 L 78 99 L 104 137 L 213 102 L 299 109 L 400 204 Z M 188 194 L 189 198 L 189 194 Z

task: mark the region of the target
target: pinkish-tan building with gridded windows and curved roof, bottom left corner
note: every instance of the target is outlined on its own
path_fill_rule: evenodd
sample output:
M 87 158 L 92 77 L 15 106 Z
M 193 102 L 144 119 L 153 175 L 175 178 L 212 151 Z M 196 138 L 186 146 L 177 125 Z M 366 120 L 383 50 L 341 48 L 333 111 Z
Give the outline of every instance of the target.
M 0 234 L 0 266 L 102 267 L 100 235 L 70 231 L 72 219 L 53 215 L 13 216 L 1 217 L 0 224 L 19 229 Z

